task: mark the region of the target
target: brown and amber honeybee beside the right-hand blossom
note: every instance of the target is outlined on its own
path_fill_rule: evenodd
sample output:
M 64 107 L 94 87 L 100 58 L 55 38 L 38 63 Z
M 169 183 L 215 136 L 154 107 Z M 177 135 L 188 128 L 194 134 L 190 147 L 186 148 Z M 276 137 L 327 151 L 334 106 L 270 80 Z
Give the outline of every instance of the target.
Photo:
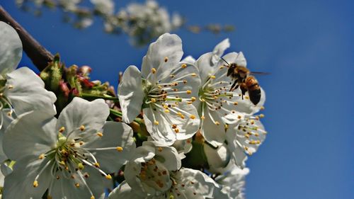
M 224 62 L 227 63 L 225 59 L 222 58 Z M 227 63 L 224 65 L 228 67 L 227 76 L 231 76 L 234 79 L 234 84 L 232 84 L 230 91 L 234 91 L 240 87 L 242 92 L 242 99 L 246 91 L 249 92 L 249 99 L 254 104 L 257 105 L 261 101 L 261 86 L 259 86 L 257 79 L 251 74 L 267 74 L 263 72 L 250 72 L 246 67 L 241 67 L 236 63 Z

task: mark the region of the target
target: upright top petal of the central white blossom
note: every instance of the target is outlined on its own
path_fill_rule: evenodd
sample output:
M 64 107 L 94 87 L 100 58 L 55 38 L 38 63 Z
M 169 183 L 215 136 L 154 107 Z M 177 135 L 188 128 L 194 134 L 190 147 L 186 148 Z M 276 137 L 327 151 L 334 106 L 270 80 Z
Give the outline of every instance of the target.
M 142 76 L 147 78 L 152 72 L 152 68 L 156 69 L 156 74 L 149 76 L 149 81 L 154 84 L 157 80 L 164 79 L 171 74 L 171 71 L 183 55 L 182 40 L 178 35 L 165 33 L 161 35 L 156 42 L 149 46 L 147 55 L 142 61 Z M 165 59 L 168 59 L 165 62 Z

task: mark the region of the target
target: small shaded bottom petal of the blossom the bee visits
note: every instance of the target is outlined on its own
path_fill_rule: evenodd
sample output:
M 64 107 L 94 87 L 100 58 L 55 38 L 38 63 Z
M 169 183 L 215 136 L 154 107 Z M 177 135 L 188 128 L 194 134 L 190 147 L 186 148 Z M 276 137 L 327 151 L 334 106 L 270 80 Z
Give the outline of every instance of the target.
M 204 111 L 205 119 L 200 127 L 202 135 L 212 146 L 220 146 L 225 141 L 225 126 L 222 118 L 217 111 L 211 111 L 208 108 L 205 108 Z

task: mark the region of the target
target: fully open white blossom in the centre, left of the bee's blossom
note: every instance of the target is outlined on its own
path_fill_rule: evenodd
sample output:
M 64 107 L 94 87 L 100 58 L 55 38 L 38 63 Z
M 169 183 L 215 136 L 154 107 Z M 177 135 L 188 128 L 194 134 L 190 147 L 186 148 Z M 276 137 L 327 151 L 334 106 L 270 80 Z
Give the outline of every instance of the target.
M 192 105 L 198 95 L 198 69 L 180 62 L 181 38 L 166 33 L 149 46 L 142 72 L 130 66 L 122 76 L 118 97 L 122 120 L 131 123 L 143 110 L 153 140 L 171 145 L 197 132 L 200 120 Z

